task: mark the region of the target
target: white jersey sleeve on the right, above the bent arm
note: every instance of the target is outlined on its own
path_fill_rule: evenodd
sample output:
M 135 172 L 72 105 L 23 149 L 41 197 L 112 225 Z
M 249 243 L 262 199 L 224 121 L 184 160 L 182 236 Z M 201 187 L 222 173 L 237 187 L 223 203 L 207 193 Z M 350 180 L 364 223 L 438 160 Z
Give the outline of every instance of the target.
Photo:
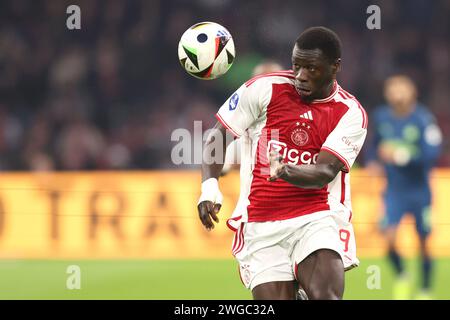
M 359 108 L 349 109 L 339 120 L 334 130 L 329 134 L 321 150 L 338 157 L 350 171 L 367 135 L 365 113 Z

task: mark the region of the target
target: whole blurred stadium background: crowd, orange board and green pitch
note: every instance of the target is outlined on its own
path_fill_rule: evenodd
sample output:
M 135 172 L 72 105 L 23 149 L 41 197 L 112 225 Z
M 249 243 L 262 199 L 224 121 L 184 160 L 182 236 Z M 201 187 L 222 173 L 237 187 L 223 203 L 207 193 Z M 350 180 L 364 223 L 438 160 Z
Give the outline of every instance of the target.
M 81 30 L 66 28 L 66 8 L 81 8 Z M 381 8 L 368 30 L 366 8 Z M 175 166 L 176 128 L 203 130 L 214 112 L 272 58 L 289 68 L 305 27 L 333 28 L 344 45 L 339 81 L 370 113 L 382 83 L 410 75 L 420 100 L 450 134 L 450 1 L 2 1 L 0 3 L 0 298 L 248 299 L 224 226 L 239 191 L 223 179 L 221 224 L 197 221 L 199 166 Z M 181 34 L 215 21 L 234 37 L 237 57 L 215 81 L 188 76 L 177 61 Z M 196 143 L 200 144 L 199 140 Z M 194 142 L 193 142 L 194 144 Z M 345 297 L 389 299 L 392 272 L 378 230 L 383 180 L 364 155 L 352 178 L 360 268 Z M 433 281 L 449 299 L 450 144 L 433 172 Z M 402 223 L 401 251 L 417 275 L 417 239 Z M 81 290 L 68 290 L 68 266 Z M 370 266 L 381 288 L 370 290 Z M 369 272 L 369 273 L 368 273 Z

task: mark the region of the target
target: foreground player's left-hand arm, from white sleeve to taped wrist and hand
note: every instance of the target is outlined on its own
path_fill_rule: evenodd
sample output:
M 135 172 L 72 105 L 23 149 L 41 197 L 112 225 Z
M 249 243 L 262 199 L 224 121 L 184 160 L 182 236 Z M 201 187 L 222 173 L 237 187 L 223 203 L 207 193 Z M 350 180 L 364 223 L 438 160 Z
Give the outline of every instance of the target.
M 252 85 L 242 85 L 225 101 L 216 114 L 218 123 L 211 130 L 202 157 L 202 194 L 197 204 L 198 214 L 207 230 L 218 222 L 217 214 L 222 205 L 222 194 L 218 179 L 225 160 L 226 147 L 232 139 L 226 139 L 226 132 L 240 137 L 262 114 L 269 103 L 272 86 L 263 79 Z M 221 140 L 220 140 L 221 139 Z M 221 149 L 217 147 L 221 141 Z M 213 151 L 214 150 L 214 151 Z M 220 156 L 217 156 L 217 152 Z

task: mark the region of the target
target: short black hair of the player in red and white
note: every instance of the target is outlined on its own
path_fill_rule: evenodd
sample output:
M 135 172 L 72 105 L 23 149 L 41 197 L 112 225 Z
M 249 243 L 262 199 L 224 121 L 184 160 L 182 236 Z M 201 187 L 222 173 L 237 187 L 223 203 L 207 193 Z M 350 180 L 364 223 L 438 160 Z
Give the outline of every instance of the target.
M 333 31 L 325 27 L 311 27 L 300 34 L 295 41 L 297 48 L 305 50 L 322 50 L 330 62 L 341 57 L 341 40 Z

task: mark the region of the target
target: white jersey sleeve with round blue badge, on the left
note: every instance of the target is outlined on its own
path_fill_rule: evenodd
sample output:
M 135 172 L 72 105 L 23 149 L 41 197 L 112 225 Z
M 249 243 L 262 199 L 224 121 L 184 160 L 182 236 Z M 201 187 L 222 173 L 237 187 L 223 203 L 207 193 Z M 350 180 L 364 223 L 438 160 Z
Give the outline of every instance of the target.
M 220 107 L 217 120 L 235 136 L 240 137 L 263 113 L 272 96 L 272 84 L 258 79 L 243 84 Z

